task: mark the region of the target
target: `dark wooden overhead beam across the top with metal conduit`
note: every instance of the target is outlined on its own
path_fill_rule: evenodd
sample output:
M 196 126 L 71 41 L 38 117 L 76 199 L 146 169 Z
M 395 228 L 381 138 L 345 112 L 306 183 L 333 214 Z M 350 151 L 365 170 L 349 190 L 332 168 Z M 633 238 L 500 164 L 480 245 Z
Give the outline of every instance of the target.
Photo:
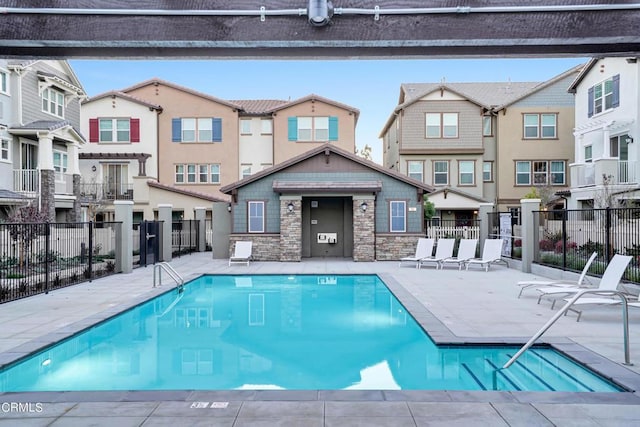
M 377 19 L 372 14 L 338 13 L 356 9 L 368 13 L 375 2 L 333 3 L 336 13 L 331 23 L 313 26 L 306 16 L 307 0 L 0 0 L 0 54 L 346 59 L 640 53 L 640 4 L 629 1 L 397 0 L 380 2 Z M 579 8 L 587 5 L 602 6 L 601 10 Z M 231 9 L 258 13 L 262 6 L 263 18 L 215 16 Z M 512 9 L 522 6 L 543 9 Z M 544 10 L 558 6 L 568 10 Z M 489 7 L 498 9 L 481 10 Z M 433 13 L 411 13 L 428 8 Z M 391 9 L 407 13 L 385 14 Z M 305 14 L 269 14 L 283 10 Z

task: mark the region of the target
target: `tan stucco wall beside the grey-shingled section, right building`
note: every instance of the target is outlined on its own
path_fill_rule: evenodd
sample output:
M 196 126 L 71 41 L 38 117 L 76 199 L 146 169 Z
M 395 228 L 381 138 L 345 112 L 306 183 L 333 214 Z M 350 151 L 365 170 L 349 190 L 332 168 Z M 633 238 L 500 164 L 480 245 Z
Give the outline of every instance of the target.
M 523 114 L 557 113 L 557 139 L 524 139 Z M 573 106 L 535 106 L 527 108 L 509 107 L 506 114 L 498 115 L 498 161 L 496 179 L 498 190 L 498 209 L 519 205 L 519 200 L 529 193 L 531 185 L 515 185 L 515 161 L 517 160 L 564 160 L 564 186 L 553 186 L 557 190 L 569 187 L 569 164 L 573 162 L 574 109 Z

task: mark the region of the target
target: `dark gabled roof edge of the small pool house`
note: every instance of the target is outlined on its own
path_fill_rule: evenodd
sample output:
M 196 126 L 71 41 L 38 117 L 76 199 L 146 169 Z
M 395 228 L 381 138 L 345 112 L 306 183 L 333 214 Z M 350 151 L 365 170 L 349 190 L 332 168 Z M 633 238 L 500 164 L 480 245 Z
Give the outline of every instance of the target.
M 311 157 L 314 157 L 314 156 L 316 156 L 318 154 L 321 154 L 321 153 L 325 153 L 325 154 L 333 153 L 333 154 L 336 154 L 338 156 L 345 157 L 348 160 L 351 160 L 353 162 L 359 163 L 359 164 L 361 164 L 361 165 L 363 165 L 365 167 L 368 167 L 368 168 L 370 168 L 370 169 L 372 169 L 372 170 L 374 170 L 376 172 L 383 173 L 383 174 L 388 175 L 388 176 L 390 176 L 392 178 L 395 178 L 395 179 L 397 179 L 399 181 L 406 182 L 407 184 L 413 185 L 416 188 L 422 189 L 423 192 L 425 192 L 425 193 L 431 193 L 431 192 L 434 191 L 434 188 L 432 186 L 428 185 L 428 184 L 425 184 L 423 182 L 417 181 L 417 180 L 415 180 L 413 178 L 409 178 L 408 176 L 406 176 L 404 174 L 401 174 L 399 172 L 396 172 L 393 169 L 384 168 L 384 167 L 380 166 L 379 164 L 372 162 L 371 160 L 367 160 L 367 159 L 364 159 L 362 157 L 356 156 L 355 154 L 350 153 L 350 152 L 348 152 L 346 150 L 343 150 L 341 148 L 338 148 L 335 145 L 332 145 L 331 143 L 326 143 L 326 144 L 322 144 L 322 145 L 320 145 L 320 146 L 318 146 L 316 148 L 313 148 L 313 149 L 311 149 L 311 150 L 309 150 L 309 151 L 307 151 L 305 153 L 302 153 L 302 154 L 300 154 L 298 156 L 295 156 L 295 157 L 292 157 L 292 158 L 290 158 L 288 160 L 285 160 L 284 162 L 278 163 L 277 165 L 272 166 L 272 167 L 270 167 L 268 169 L 264 169 L 264 170 L 262 170 L 260 172 L 257 172 L 257 173 L 255 173 L 253 175 L 250 175 L 250 176 L 246 177 L 246 178 L 243 178 L 240 181 L 236 181 L 234 183 L 225 185 L 224 187 L 220 188 L 220 192 L 224 193 L 224 194 L 231 194 L 231 192 L 233 190 L 236 190 L 236 189 L 238 189 L 240 187 L 244 187 L 245 185 L 250 184 L 250 183 L 252 183 L 254 181 L 258 181 L 258 180 L 264 178 L 265 176 L 268 176 L 268 175 L 274 174 L 276 172 L 279 172 L 281 170 L 284 170 L 284 169 L 288 168 L 289 166 L 295 165 L 296 163 L 300 163 L 303 160 L 310 159 Z

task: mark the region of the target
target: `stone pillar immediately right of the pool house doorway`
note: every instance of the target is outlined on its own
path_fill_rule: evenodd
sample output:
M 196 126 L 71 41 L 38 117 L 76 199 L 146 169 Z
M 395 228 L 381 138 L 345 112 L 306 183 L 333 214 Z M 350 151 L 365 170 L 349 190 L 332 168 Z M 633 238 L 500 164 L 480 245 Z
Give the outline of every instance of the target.
M 363 209 L 365 207 L 366 208 Z M 353 260 L 375 261 L 375 196 L 353 196 Z

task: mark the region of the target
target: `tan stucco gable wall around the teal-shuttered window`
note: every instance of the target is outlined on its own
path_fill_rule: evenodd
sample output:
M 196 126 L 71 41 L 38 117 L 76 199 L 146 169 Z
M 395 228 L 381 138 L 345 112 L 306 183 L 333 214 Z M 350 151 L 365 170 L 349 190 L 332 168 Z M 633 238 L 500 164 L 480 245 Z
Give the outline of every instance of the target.
M 338 117 L 338 140 L 332 141 L 331 143 L 351 153 L 355 151 L 355 114 L 322 101 L 309 100 L 278 110 L 275 114 L 273 120 L 273 138 L 275 141 L 273 153 L 274 164 L 290 159 L 327 142 L 289 141 L 288 118 L 299 116 Z

